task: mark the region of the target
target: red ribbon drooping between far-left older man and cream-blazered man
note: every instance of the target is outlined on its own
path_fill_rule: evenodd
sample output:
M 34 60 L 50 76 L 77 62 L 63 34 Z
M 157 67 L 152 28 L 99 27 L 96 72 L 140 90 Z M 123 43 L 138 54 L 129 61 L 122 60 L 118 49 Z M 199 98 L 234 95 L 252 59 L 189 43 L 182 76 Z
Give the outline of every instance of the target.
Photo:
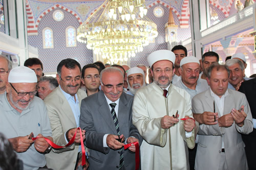
M 81 128 L 78 127 L 77 129 L 80 131 L 80 140 L 81 140 L 81 147 L 82 147 L 82 166 L 83 166 L 86 164 L 86 151 L 84 150 Z M 40 136 L 40 137 L 43 137 L 43 136 Z M 40 138 L 40 137 L 32 137 L 32 140 L 34 141 L 35 139 Z M 52 146 L 52 148 L 60 149 L 60 148 L 69 147 L 72 143 L 74 143 L 75 138 L 76 138 L 76 132 L 75 132 L 74 136 L 72 137 L 72 139 L 69 141 L 69 143 L 66 144 L 64 147 L 53 143 L 50 139 L 48 139 L 46 137 L 43 137 L 43 138 L 46 139 L 46 141 Z M 136 148 L 136 151 L 137 151 L 137 148 Z

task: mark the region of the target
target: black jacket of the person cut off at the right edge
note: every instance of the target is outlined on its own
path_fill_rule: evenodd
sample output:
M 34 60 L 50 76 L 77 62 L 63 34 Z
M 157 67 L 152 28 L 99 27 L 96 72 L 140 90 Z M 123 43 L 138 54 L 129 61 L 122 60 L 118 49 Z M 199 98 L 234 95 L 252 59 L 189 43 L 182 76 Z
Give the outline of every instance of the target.
M 250 105 L 252 118 L 256 118 L 256 79 L 250 79 L 242 83 L 239 88 L 240 92 L 243 92 Z M 249 169 L 256 169 L 256 129 L 248 135 L 242 135 L 245 143 L 245 153 Z

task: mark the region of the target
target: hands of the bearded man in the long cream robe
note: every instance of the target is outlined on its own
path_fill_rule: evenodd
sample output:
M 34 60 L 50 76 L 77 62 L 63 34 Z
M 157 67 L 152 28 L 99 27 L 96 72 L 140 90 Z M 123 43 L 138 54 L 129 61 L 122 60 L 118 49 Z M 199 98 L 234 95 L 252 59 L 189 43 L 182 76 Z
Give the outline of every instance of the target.
M 168 129 L 174 126 L 176 123 L 179 122 L 178 118 L 179 118 L 179 114 L 177 115 L 176 118 L 168 115 L 163 116 L 161 118 L 161 128 Z M 187 118 L 186 120 L 184 120 L 184 129 L 186 132 L 191 132 L 195 127 L 195 121 L 194 119 L 189 118 L 188 116 L 185 116 L 184 118 Z

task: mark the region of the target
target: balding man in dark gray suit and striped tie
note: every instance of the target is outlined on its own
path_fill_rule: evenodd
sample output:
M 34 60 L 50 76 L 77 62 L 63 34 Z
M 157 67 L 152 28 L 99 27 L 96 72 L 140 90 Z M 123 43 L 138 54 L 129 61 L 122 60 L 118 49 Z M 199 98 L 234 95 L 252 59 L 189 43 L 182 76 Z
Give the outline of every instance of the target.
M 123 92 L 119 68 L 103 69 L 100 83 L 101 91 L 83 99 L 81 104 L 80 126 L 86 130 L 89 169 L 134 170 L 135 145 L 123 149 L 124 143 L 142 142 L 132 124 L 133 96 Z

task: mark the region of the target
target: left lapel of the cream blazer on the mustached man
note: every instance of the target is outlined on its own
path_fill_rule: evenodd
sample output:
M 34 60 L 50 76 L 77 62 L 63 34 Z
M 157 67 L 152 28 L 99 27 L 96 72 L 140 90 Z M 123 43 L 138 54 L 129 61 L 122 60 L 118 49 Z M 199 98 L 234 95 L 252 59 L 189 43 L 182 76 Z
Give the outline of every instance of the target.
M 61 110 L 65 113 L 67 113 L 67 118 L 69 120 L 71 120 L 71 122 L 75 125 L 76 127 L 76 120 L 75 120 L 75 116 L 74 113 L 69 105 L 69 102 L 67 101 L 67 99 L 65 98 L 65 95 L 62 93 L 62 91 L 60 90 L 59 87 L 57 87 L 57 95 L 61 98 Z

